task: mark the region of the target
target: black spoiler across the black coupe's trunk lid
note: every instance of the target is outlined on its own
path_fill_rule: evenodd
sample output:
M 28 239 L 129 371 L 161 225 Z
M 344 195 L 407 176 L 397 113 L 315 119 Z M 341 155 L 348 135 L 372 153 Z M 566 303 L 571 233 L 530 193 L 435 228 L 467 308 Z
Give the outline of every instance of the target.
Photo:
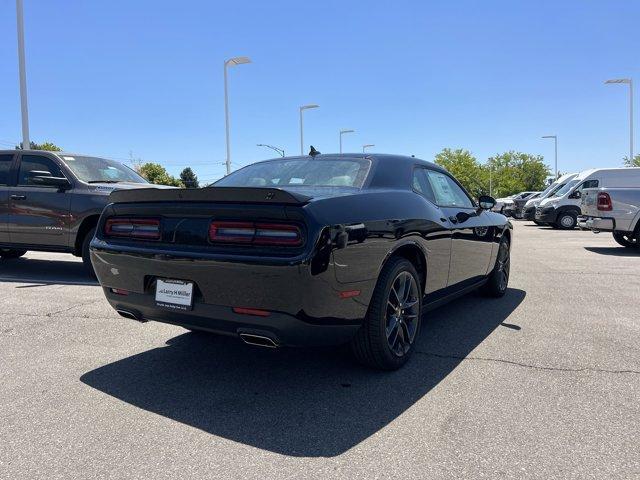
M 139 188 L 133 190 L 114 190 L 111 192 L 111 195 L 109 195 L 109 202 L 229 202 L 304 205 L 308 203 L 311 198 L 312 197 L 289 192 L 280 188 Z

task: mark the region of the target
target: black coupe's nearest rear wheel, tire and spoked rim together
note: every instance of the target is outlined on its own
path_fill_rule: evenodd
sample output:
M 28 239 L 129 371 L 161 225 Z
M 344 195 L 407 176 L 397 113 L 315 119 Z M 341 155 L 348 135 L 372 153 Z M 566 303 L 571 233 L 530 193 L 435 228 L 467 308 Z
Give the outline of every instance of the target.
M 389 259 L 362 327 L 351 340 L 358 362 L 379 370 L 397 370 L 407 362 L 420 333 L 422 295 L 413 264 L 401 257 Z

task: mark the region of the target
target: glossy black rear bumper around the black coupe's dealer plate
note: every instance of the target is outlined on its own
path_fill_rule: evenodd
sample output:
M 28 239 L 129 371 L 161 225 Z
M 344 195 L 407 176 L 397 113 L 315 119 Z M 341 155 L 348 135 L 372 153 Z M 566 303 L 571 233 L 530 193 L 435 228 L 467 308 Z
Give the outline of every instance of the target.
M 94 270 L 109 303 L 139 320 L 239 335 L 264 331 L 281 345 L 327 345 L 348 341 L 366 315 L 375 280 L 340 284 L 333 268 L 311 271 L 309 262 L 256 263 L 212 258 L 164 258 L 92 247 Z M 156 305 L 156 279 L 194 283 L 193 309 Z M 120 289 L 126 295 L 112 291 Z M 359 292 L 342 298 L 341 293 Z M 267 316 L 239 314 L 257 309 Z

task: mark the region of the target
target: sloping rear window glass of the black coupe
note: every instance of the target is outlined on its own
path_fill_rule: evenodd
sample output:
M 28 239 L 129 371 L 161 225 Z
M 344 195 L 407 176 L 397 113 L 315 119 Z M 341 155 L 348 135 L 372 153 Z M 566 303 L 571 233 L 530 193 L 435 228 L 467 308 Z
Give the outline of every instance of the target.
M 351 187 L 362 188 L 368 159 L 283 159 L 254 163 L 218 180 L 217 187 Z

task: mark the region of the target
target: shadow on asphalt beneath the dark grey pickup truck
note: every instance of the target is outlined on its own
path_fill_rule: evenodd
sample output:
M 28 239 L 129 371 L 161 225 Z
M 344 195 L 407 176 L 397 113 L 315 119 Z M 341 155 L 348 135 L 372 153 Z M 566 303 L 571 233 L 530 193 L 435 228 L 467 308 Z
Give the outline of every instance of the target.
M 98 285 L 82 262 L 28 257 L 0 260 L 0 282 L 32 283 L 37 286 Z

